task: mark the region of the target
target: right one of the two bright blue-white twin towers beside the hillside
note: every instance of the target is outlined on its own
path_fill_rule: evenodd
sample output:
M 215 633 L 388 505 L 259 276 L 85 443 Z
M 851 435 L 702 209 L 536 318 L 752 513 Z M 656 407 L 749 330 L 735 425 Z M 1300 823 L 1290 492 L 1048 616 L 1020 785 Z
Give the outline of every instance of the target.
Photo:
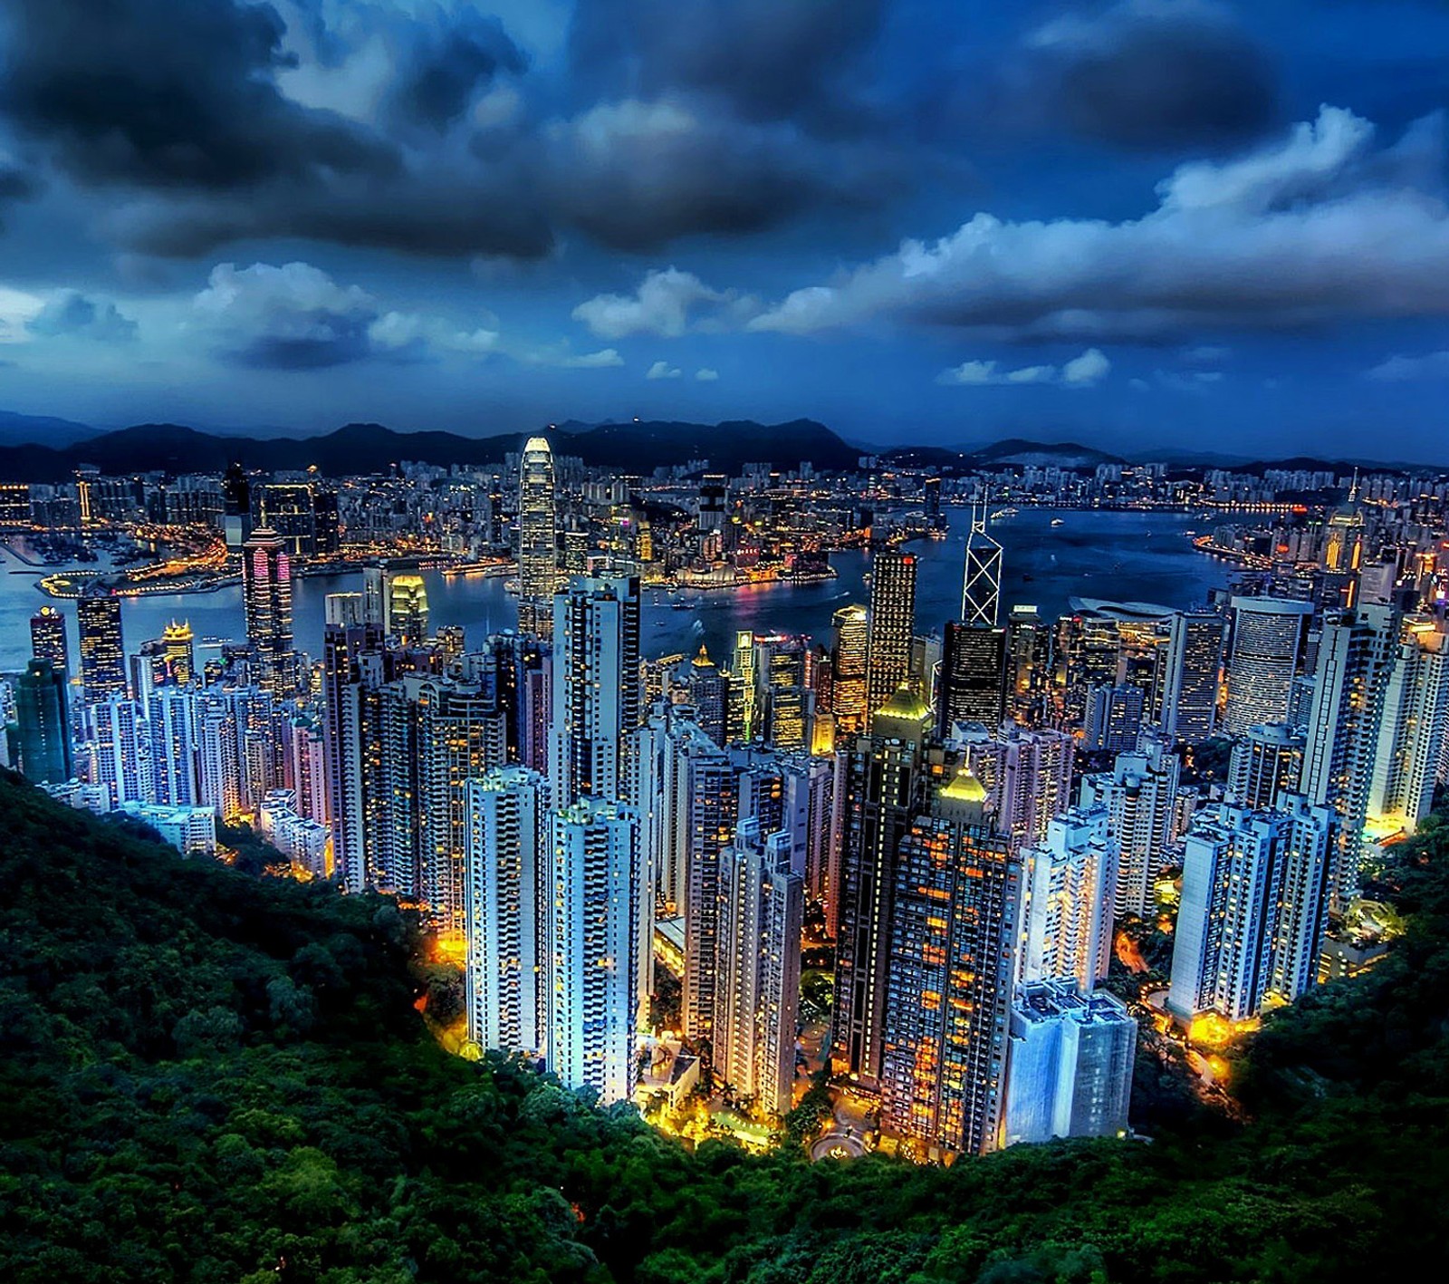
M 551 814 L 546 868 L 548 1068 L 604 1104 L 633 1094 L 639 1007 L 639 819 L 584 799 Z

